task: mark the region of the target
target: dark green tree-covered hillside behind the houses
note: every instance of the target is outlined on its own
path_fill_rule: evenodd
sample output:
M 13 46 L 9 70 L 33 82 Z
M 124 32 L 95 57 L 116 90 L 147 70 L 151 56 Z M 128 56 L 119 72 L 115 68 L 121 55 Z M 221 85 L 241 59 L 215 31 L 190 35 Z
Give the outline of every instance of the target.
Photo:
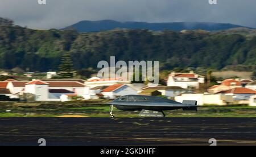
M 256 37 L 207 31 L 31 30 L 0 18 L 0 68 L 56 70 L 71 54 L 74 69 L 97 68 L 100 60 L 159 60 L 162 69 L 256 65 Z

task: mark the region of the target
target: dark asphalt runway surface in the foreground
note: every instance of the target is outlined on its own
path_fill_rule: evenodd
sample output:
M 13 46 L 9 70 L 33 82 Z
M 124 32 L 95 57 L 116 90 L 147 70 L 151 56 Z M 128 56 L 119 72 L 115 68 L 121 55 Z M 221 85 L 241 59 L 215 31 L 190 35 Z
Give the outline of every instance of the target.
M 0 118 L 0 145 L 256 145 L 256 118 Z

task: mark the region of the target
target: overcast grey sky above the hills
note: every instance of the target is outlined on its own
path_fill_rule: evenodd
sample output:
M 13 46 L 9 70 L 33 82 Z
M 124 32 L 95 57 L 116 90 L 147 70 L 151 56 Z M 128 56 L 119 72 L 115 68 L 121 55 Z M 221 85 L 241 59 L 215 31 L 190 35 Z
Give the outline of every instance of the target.
M 255 0 L 0 0 L 0 17 L 36 29 L 64 28 L 80 20 L 219 22 L 256 28 Z

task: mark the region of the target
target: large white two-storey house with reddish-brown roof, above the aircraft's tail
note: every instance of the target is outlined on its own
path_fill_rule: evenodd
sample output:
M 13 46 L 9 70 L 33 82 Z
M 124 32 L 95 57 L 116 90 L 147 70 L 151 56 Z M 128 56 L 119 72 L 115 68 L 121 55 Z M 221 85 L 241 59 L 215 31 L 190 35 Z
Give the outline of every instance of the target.
M 198 89 L 200 84 L 204 84 L 205 78 L 193 72 L 175 73 L 172 72 L 167 81 L 167 86 L 180 86 L 185 89 Z

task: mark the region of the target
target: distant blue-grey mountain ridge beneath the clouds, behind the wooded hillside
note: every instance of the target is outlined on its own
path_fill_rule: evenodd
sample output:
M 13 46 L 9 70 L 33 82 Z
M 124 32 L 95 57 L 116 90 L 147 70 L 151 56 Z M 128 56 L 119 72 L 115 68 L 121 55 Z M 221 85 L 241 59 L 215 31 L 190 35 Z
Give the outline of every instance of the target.
M 61 30 L 73 28 L 79 32 L 98 32 L 109 31 L 115 28 L 127 29 L 147 29 L 152 31 L 182 31 L 182 30 L 206 30 L 218 31 L 227 30 L 230 28 L 251 28 L 230 23 L 213 23 L 213 22 L 163 22 L 163 23 L 149 23 L 149 22 L 118 22 L 116 20 L 82 20 L 71 26 L 65 27 Z

